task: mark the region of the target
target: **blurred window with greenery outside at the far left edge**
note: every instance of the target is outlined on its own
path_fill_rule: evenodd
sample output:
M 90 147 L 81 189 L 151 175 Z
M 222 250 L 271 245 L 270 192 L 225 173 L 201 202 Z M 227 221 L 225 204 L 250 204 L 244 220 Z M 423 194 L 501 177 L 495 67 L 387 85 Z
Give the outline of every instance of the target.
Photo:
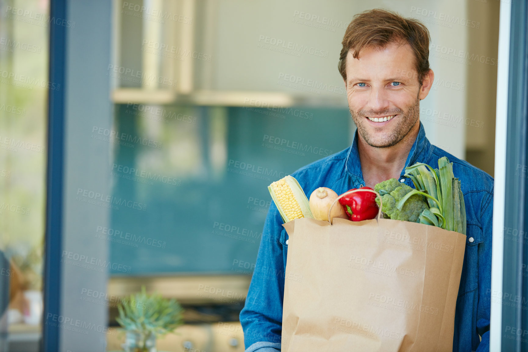
M 47 0 L 0 2 L 0 350 L 41 335 L 51 21 Z

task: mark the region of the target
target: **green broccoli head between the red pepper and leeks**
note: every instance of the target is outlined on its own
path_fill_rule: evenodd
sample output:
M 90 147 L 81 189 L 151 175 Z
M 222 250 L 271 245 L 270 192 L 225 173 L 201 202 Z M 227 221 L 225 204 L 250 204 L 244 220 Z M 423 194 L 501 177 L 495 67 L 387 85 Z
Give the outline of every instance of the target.
M 429 206 L 423 201 L 423 196 L 414 194 L 403 205 L 401 210 L 396 206 L 401 198 L 413 190 L 407 184 L 400 183 L 397 179 L 390 179 L 380 182 L 374 186 L 376 192 L 381 191 L 382 208 L 381 211 L 385 218 L 393 220 L 412 221 L 419 223 L 420 214 L 424 209 L 429 209 Z M 379 198 L 376 198 L 376 203 L 380 205 Z

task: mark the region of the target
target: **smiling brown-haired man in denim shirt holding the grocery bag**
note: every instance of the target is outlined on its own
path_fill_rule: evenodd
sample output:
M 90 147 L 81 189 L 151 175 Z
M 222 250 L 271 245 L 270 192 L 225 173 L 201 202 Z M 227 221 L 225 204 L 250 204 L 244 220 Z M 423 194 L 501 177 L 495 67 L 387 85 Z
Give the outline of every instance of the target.
M 406 166 L 417 162 L 437 165 L 439 158 L 447 156 L 461 181 L 467 215 L 453 351 L 483 352 L 489 350 L 493 178 L 431 145 L 425 136 L 419 104 L 434 79 L 429 69 L 429 42 L 427 28 L 416 20 L 384 10 L 356 15 L 346 29 L 338 64 L 357 126 L 354 142 L 293 176 L 306 194 L 318 187 L 329 187 L 338 194 L 362 186 L 374 188 L 390 178 L 413 187 L 403 177 Z M 288 250 L 288 235 L 281 225 L 272 203 L 246 305 L 240 312 L 248 352 L 280 351 Z

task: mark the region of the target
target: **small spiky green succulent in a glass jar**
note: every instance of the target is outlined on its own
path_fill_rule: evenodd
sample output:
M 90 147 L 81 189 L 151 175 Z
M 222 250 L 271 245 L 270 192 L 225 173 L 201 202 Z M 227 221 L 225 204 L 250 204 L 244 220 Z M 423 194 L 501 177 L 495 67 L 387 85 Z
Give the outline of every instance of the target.
M 159 293 L 141 292 L 122 298 L 117 307 L 119 325 L 126 330 L 127 352 L 156 352 L 156 337 L 173 331 L 183 323 L 183 309 L 175 299 Z

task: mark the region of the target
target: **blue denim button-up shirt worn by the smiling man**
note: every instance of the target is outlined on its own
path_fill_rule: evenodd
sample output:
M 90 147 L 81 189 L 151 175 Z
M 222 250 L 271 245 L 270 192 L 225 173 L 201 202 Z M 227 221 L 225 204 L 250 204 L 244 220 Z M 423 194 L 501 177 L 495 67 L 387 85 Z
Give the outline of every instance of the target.
M 357 138 L 356 132 L 354 142 L 347 149 L 306 165 L 292 174 L 307 195 L 318 187 L 328 187 L 341 194 L 351 188 L 364 186 Z M 436 168 L 442 156 L 447 156 L 453 163 L 453 173 L 460 179 L 467 217 L 466 249 L 456 304 L 453 351 L 489 351 L 493 178 L 431 145 L 420 123 L 420 132 L 409 152 L 406 166 L 423 162 Z M 402 170 L 400 180 L 414 188 L 412 181 L 403 177 L 404 173 Z M 280 351 L 287 253 L 288 234 L 282 227 L 277 207 L 271 202 L 246 304 L 240 312 L 246 351 Z

